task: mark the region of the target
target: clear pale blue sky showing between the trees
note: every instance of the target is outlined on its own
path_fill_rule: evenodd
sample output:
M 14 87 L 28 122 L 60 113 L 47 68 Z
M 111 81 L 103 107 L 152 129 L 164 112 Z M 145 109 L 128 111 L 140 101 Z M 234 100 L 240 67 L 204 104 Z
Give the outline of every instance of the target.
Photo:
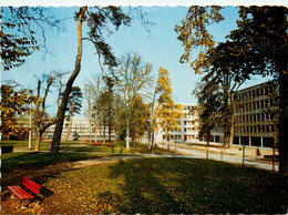
M 127 8 L 123 9 L 127 10 Z M 135 20 L 131 27 L 121 27 L 119 31 L 111 35 L 104 33 L 106 42 L 112 47 L 117 58 L 126 53 L 140 54 L 144 62 L 153 65 L 153 74 L 155 76 L 160 66 L 168 70 L 174 101 L 176 103 L 196 104 L 197 101 L 192 95 L 192 91 L 199 82 L 202 75 L 195 74 L 189 63 L 179 63 L 184 48 L 182 42 L 177 40 L 177 33 L 174 31 L 175 24 L 181 24 L 188 8 L 143 7 L 143 9 L 146 11 L 148 20 L 155 23 L 150 27 L 150 32 L 141 25 L 140 21 Z M 66 18 L 64 21 L 65 32 L 45 31 L 47 47 L 53 55 L 44 54 L 44 50 L 34 52 L 27 58 L 22 66 L 2 71 L 2 82 L 13 79 L 24 86 L 35 88 L 35 75 L 40 76 L 43 72 L 49 73 L 52 70 L 62 72 L 73 71 L 76 55 L 76 21 L 73 19 L 73 16 L 78 8 L 50 7 L 49 10 L 56 18 Z M 236 28 L 237 10 L 236 7 L 225 7 L 222 12 L 225 20 L 210 27 L 209 31 L 216 42 L 225 41 L 225 35 Z M 85 33 L 84 29 L 83 35 Z M 101 74 L 97 55 L 94 53 L 93 45 L 89 41 L 84 41 L 81 72 L 74 85 L 83 89 L 84 83 L 91 80 L 94 74 Z M 243 88 L 268 80 L 270 79 L 254 76 Z M 53 99 L 50 101 L 50 112 L 55 114 L 52 103 Z

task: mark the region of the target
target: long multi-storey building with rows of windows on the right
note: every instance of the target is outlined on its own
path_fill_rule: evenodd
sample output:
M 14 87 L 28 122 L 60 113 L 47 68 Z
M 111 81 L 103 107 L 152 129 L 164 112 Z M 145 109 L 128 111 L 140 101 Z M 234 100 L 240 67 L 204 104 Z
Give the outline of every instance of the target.
M 237 92 L 234 144 L 272 147 L 277 131 L 276 82 L 266 82 Z

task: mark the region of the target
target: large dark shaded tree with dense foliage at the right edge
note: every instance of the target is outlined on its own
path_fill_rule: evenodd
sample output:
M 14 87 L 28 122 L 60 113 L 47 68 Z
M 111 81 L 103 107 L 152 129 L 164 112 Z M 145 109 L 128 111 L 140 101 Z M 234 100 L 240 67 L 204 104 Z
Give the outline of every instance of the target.
M 246 74 L 277 76 L 279 82 L 279 123 L 278 183 L 288 187 L 288 49 L 287 14 L 285 7 L 241 7 L 237 29 L 228 35 L 229 40 L 240 47 L 241 68 Z

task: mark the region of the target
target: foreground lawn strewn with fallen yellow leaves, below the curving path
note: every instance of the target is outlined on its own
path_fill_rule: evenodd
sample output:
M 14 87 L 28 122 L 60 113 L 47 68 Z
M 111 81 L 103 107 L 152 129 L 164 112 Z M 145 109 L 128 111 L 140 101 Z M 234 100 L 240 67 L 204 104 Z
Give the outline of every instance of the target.
M 49 213 L 286 213 L 276 174 L 227 163 L 145 158 L 49 177 Z

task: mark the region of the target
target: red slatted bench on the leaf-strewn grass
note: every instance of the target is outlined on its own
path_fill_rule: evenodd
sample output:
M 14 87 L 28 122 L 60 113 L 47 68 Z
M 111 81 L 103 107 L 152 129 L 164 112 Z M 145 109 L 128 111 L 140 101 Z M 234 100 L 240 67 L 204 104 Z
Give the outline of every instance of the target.
M 31 203 L 31 199 L 38 199 L 39 191 L 41 188 L 41 185 L 34 183 L 33 181 L 23 177 L 21 182 L 22 186 L 8 186 L 8 188 L 12 192 L 11 198 L 17 196 L 21 201 L 20 209 L 28 208 L 27 206 Z M 23 205 L 24 199 L 30 199 L 30 202 L 27 204 L 27 206 Z M 39 205 L 39 202 L 34 204 Z

